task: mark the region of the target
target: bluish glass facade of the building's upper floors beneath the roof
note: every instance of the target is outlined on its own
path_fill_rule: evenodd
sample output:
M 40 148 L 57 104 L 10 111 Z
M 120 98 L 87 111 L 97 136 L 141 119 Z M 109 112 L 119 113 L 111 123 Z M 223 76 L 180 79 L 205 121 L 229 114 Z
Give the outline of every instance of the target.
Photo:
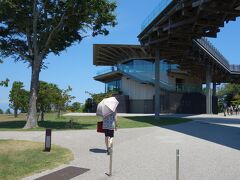
M 179 70 L 179 65 L 168 64 L 164 60 L 160 61 L 160 87 L 177 92 L 200 92 L 201 86 L 188 84 L 184 80 L 180 82 L 179 79 L 170 77 L 168 72 L 171 70 Z M 102 71 L 100 74 L 120 71 L 126 73 L 128 76 L 140 79 L 143 82 L 155 83 L 155 62 L 151 60 L 135 59 L 123 64 L 109 67 L 107 70 Z M 112 79 L 105 83 L 105 92 L 120 91 L 121 80 Z

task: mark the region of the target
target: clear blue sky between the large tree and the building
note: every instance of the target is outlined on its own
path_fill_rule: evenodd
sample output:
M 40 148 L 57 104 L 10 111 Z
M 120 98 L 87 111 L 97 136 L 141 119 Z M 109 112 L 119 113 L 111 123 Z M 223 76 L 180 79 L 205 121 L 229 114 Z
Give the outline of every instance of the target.
M 60 56 L 49 55 L 46 59 L 48 68 L 42 70 L 40 80 L 57 84 L 66 89 L 73 88 L 74 101 L 83 103 L 89 97 L 85 91 L 99 93 L 104 91 L 104 84 L 93 79 L 98 70 L 104 67 L 93 65 L 93 44 L 139 44 L 137 35 L 141 31 L 141 23 L 158 5 L 160 0 L 117 0 L 118 25 L 110 29 L 108 36 L 86 38 L 62 52 Z M 211 42 L 229 60 L 231 64 L 240 64 L 240 20 L 230 22 L 221 29 L 216 39 Z M 22 81 L 26 89 L 30 86 L 30 68 L 22 62 L 6 59 L 0 65 L 0 79 L 9 78 L 9 87 L 0 87 L 0 108 L 8 108 L 8 94 L 14 81 Z M 73 101 L 73 102 L 74 102 Z

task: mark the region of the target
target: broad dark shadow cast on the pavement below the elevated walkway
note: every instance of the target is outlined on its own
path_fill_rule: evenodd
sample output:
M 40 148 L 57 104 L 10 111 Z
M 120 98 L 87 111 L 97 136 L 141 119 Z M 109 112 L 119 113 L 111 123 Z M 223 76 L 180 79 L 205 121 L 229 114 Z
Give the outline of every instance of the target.
M 239 124 L 239 127 L 224 124 Z M 240 120 L 197 118 L 192 122 L 168 125 L 162 128 L 240 150 Z

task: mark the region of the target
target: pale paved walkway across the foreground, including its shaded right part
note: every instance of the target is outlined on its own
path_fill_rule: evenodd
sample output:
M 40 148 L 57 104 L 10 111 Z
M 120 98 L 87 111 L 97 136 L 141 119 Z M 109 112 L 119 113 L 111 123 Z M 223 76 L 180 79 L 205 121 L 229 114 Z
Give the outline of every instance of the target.
M 176 149 L 180 150 L 180 180 L 239 179 L 240 118 L 190 117 L 194 121 L 178 125 L 118 130 L 112 177 L 105 175 L 109 156 L 103 153 L 102 134 L 94 130 L 54 131 L 52 143 L 73 151 L 75 159 L 70 165 L 90 169 L 74 179 L 173 180 L 176 179 Z M 44 141 L 44 132 L 0 132 L 0 139 Z

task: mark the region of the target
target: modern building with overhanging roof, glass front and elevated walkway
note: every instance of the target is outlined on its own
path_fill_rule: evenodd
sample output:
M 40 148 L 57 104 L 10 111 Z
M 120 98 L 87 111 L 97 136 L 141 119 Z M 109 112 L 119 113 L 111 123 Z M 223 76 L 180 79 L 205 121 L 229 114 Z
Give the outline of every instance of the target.
M 168 0 L 143 23 L 141 45 L 95 44 L 93 64 L 108 68 L 94 79 L 105 83 L 106 92 L 118 92 L 118 111 L 155 112 L 156 117 L 159 112 L 216 113 L 216 85 L 240 81 L 240 66 L 230 65 L 204 38 L 216 36 L 216 27 L 237 16 L 221 13 L 228 3 Z M 238 7 L 233 1 L 228 10 Z

